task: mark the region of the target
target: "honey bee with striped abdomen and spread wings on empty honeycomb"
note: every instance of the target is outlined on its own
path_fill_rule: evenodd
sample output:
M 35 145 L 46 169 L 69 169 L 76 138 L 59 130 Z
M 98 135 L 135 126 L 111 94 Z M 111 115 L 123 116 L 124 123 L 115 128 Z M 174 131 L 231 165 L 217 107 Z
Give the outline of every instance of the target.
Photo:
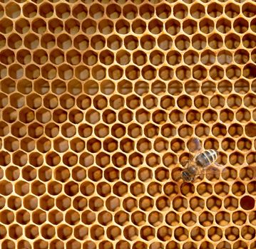
M 188 149 L 190 151 L 190 159 L 185 162 L 185 169 L 181 172 L 181 178 L 184 181 L 195 181 L 198 176 L 220 173 L 219 169 L 222 169 L 222 165 L 216 162 L 219 156 L 217 150 L 208 149 L 202 152 L 200 141 L 196 138 L 190 139 Z

